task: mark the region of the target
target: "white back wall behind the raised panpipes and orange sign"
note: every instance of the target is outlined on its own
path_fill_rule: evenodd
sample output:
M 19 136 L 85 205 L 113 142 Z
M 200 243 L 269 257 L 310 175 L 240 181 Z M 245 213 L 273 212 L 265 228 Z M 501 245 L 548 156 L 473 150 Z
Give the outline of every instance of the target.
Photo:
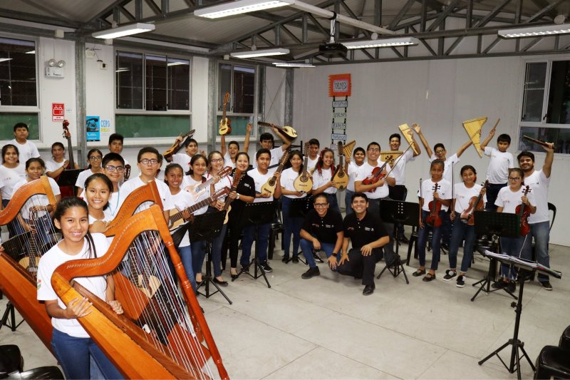
M 480 116 L 489 117 L 483 126 L 483 138 L 497 118 L 501 118 L 498 133 L 508 133 L 514 142 L 518 134 L 523 67 L 522 58 L 503 57 L 296 69 L 294 127 L 302 140 L 318 138 L 321 147 L 330 145 L 332 98 L 328 98 L 328 75 L 351 73 L 347 134 L 348 140 L 356 139 L 357 146 L 366 148 L 375 140 L 388 150 L 388 136 L 398 132 L 398 125 L 419 123 L 431 148 L 435 143 L 443 143 L 448 155 L 452 155 L 468 140 L 462 121 Z M 515 156 L 516 145 L 513 143 L 509 148 Z M 537 155 L 537 168 L 541 168 L 543 161 L 544 154 Z M 475 166 L 479 181 L 484 180 L 486 156 L 480 159 L 475 149 L 469 148 L 456 165 L 456 172 L 465 164 Z M 409 201 L 415 200 L 413 195 L 418 191 L 420 178 L 428 175 L 424 152 L 406 170 Z M 551 242 L 561 245 L 570 245 L 570 236 L 564 232 L 564 216 L 570 212 L 570 206 L 563 197 L 563 178 L 569 175 L 568 158 L 556 157 L 549 201 L 558 207 L 558 220 L 552 229 Z M 455 173 L 455 179 L 460 180 L 459 173 Z

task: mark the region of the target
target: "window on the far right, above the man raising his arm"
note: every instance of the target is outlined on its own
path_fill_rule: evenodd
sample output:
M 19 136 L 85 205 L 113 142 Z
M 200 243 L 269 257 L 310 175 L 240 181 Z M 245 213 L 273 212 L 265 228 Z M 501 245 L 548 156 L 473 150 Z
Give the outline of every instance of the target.
M 525 67 L 519 150 L 543 152 L 523 136 L 554 142 L 570 154 L 570 61 L 529 62 Z

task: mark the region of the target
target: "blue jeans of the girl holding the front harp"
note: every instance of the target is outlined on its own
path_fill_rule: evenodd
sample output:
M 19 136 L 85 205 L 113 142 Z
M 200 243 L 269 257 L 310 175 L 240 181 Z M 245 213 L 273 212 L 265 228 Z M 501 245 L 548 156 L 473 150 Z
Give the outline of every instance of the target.
M 66 379 L 89 379 L 93 358 L 105 379 L 124 379 L 91 338 L 75 338 L 53 329 L 51 349 L 63 368 Z

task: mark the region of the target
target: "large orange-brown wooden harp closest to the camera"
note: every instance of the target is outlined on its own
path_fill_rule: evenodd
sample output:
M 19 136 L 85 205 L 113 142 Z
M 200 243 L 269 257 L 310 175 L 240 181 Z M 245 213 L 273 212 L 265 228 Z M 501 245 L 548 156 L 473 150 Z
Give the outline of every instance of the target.
M 183 299 L 164 250 L 175 266 Z M 115 279 L 123 315 L 73 282 L 75 277 L 104 274 Z M 157 205 L 126 220 L 106 255 L 66 262 L 53 273 L 51 283 L 63 302 L 81 294 L 93 303 L 90 314 L 78 321 L 125 377 L 228 378 Z

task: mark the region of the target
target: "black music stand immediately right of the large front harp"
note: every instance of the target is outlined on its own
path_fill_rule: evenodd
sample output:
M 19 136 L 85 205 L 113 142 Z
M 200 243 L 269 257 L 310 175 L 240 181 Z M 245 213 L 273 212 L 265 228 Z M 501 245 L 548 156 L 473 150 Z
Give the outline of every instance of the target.
M 189 226 L 188 231 L 190 232 L 190 242 L 202 240 L 206 242 L 206 274 L 202 276 L 202 282 L 198 284 L 196 291 L 206 298 L 219 292 L 229 304 L 232 304 L 232 301 L 212 279 L 212 240 L 222 232 L 225 217 L 225 211 L 207 212 L 206 214 L 197 215 L 194 217 L 194 222 Z M 210 282 L 216 287 L 217 290 L 215 292 L 209 292 Z M 206 293 L 199 292 L 199 288 L 202 285 L 206 288 Z

